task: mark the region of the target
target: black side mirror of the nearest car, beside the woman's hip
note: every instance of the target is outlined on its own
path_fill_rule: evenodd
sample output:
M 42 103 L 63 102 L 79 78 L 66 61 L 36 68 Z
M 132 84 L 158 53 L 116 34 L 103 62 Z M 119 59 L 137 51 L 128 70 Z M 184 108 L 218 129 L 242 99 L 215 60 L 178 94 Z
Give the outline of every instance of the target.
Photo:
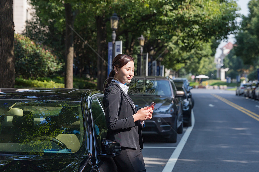
M 98 156 L 105 158 L 112 158 L 121 153 L 120 143 L 114 140 L 102 139 L 101 140 L 102 153 Z

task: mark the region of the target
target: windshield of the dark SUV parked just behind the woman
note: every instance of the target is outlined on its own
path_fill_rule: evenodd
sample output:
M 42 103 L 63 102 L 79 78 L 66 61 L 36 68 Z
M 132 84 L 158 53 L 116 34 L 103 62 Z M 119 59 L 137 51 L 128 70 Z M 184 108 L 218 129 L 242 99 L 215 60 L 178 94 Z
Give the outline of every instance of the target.
M 156 78 L 135 79 L 129 84 L 130 95 L 157 95 L 171 96 L 171 89 L 168 80 L 156 80 Z

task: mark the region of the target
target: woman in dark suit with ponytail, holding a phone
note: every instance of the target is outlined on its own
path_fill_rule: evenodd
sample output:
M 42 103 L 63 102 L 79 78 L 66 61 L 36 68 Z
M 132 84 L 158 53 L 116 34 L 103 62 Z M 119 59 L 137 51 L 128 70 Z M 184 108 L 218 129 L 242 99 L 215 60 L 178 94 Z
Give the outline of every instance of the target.
M 146 171 L 142 155 L 143 139 L 141 127 L 152 118 L 154 107 L 144 107 L 137 111 L 128 96 L 128 86 L 134 76 L 134 58 L 118 54 L 113 62 L 113 70 L 106 84 L 103 105 L 107 123 L 107 138 L 120 142 L 122 152 L 114 158 L 118 171 Z

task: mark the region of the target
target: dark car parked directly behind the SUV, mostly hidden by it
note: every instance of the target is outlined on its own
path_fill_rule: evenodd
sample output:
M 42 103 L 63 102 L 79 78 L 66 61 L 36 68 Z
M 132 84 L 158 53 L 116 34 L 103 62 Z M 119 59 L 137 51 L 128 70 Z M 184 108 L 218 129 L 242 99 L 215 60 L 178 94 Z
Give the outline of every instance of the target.
M 192 126 L 192 99 L 188 97 L 183 84 L 175 83 L 177 94 L 183 103 L 183 122 L 186 126 Z M 181 95 L 181 96 L 180 96 Z

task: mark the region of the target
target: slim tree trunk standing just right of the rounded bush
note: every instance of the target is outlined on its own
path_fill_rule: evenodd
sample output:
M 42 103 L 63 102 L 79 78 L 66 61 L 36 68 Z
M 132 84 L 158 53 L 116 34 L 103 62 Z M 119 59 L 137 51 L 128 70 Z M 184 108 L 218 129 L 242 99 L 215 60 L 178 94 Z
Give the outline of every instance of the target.
M 74 61 L 74 20 L 75 14 L 72 13 L 71 4 L 64 4 L 66 16 L 66 70 L 65 70 L 65 88 L 73 88 L 73 61 Z

